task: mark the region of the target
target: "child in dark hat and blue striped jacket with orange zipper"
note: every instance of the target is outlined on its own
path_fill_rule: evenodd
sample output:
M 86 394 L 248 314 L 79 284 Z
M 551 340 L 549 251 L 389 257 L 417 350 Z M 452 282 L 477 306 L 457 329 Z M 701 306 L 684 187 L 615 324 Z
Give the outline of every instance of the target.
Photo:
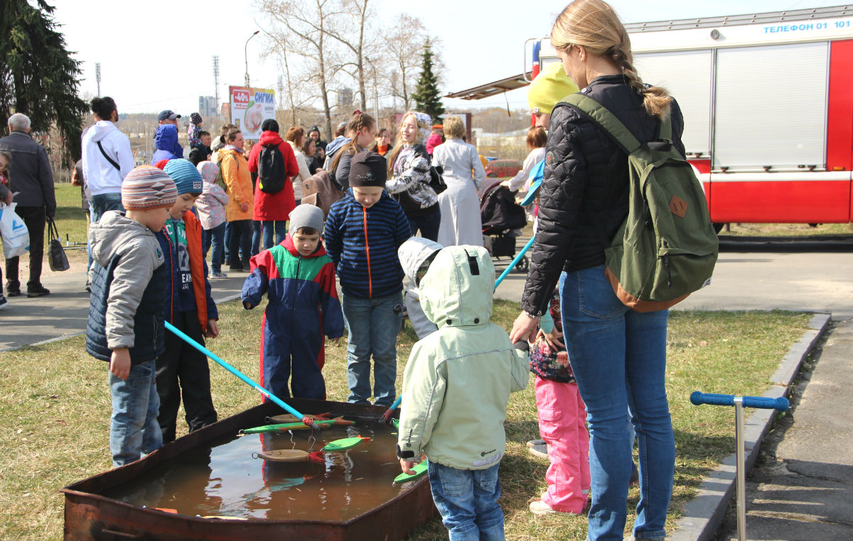
M 386 161 L 363 151 L 351 161 L 350 188 L 332 205 L 326 220 L 326 252 L 343 293 L 349 333 L 346 344 L 347 400 L 370 403 L 370 356 L 377 406 L 397 397 L 397 332 L 403 313 L 403 268 L 397 249 L 409 239 L 409 219 L 384 190 Z

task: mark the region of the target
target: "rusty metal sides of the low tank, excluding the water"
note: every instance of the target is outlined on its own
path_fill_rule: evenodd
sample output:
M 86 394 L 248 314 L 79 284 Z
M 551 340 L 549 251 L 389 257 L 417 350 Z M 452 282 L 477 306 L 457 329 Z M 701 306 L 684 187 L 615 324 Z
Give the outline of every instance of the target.
M 383 407 L 322 400 L 290 399 L 288 403 L 306 414 L 330 412 L 334 417 L 351 419 L 377 419 L 385 411 Z M 264 424 L 266 417 L 279 413 L 281 408 L 271 402 L 253 407 L 179 438 L 135 463 L 62 488 L 65 539 L 402 539 L 436 515 L 427 476 L 410 482 L 396 497 L 345 521 L 201 518 L 129 504 L 105 495 L 152 475 L 184 453 L 236 435 L 241 429 Z

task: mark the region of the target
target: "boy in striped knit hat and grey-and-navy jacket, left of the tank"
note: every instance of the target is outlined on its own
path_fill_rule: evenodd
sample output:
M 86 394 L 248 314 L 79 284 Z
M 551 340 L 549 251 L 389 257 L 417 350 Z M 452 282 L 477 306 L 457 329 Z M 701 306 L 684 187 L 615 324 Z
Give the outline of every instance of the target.
M 113 397 L 110 451 L 123 466 L 162 445 L 154 373 L 163 354 L 163 305 L 169 279 L 155 232 L 177 199 L 171 177 L 149 165 L 125 176 L 121 204 L 91 224 L 91 296 L 86 351 L 109 363 Z

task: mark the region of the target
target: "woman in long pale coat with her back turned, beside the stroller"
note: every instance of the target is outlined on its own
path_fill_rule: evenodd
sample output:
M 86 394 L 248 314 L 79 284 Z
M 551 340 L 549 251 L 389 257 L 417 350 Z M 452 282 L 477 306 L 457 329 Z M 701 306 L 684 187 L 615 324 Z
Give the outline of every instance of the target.
M 438 244 L 483 245 L 483 224 L 479 216 L 477 189 L 485 179 L 477 148 L 462 141 L 465 125 L 456 116 L 444 118 L 444 136 L 447 141 L 435 147 L 432 165 L 444 168 L 447 189 L 438 195 L 441 225 L 438 227 Z

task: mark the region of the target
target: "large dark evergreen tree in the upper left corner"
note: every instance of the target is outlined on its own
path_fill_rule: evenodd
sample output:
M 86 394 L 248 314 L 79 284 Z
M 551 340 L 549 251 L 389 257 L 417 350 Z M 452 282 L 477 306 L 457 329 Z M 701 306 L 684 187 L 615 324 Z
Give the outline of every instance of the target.
M 47 133 L 55 124 L 63 146 L 63 162 L 80 156 L 80 133 L 86 102 L 77 95 L 80 62 L 66 49 L 53 20 L 53 6 L 36 0 L 0 3 L 0 135 L 5 120 L 22 112 L 33 132 Z

